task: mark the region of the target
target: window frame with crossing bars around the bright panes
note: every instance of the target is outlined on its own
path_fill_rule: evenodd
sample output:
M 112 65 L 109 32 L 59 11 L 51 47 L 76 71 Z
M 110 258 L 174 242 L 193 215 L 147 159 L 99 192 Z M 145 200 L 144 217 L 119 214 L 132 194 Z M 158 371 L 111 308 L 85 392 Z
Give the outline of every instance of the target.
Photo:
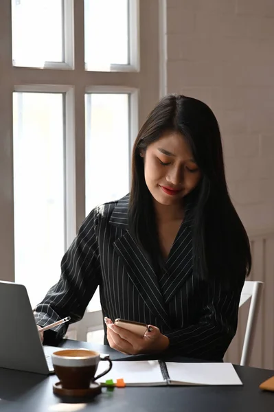
M 0 279 L 10 282 L 14 282 L 13 91 L 65 93 L 66 249 L 85 217 L 84 94 L 130 93 L 130 152 L 140 124 L 160 95 L 158 0 L 129 0 L 130 65 L 115 65 L 110 72 L 85 70 L 84 1 L 64 3 L 65 62 L 47 62 L 39 69 L 12 65 L 11 0 L 0 1 Z M 98 328 L 99 315 L 88 314 L 92 330 Z

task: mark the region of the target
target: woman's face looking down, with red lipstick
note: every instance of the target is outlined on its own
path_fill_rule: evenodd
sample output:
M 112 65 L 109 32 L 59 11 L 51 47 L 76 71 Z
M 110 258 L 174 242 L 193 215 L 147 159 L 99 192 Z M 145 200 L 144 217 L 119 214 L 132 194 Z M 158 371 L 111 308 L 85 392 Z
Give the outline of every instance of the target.
M 181 203 L 201 180 L 192 151 L 179 133 L 166 133 L 141 156 L 148 190 L 161 205 Z

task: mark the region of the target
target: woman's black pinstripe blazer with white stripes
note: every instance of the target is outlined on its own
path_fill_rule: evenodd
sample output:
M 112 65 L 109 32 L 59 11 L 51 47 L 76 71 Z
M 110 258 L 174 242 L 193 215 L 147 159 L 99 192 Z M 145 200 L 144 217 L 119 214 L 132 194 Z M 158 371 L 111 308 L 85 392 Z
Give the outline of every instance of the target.
M 128 200 L 129 195 L 106 203 L 87 216 L 62 258 L 59 282 L 36 307 L 36 322 L 44 326 L 66 316 L 79 321 L 99 285 L 103 317 L 157 325 L 170 339 L 170 350 L 183 356 L 222 358 L 236 333 L 244 276 L 229 288 L 194 273 L 190 214 L 166 270 L 157 275 L 128 232 Z M 59 326 L 54 335 L 60 338 L 66 330 L 67 324 Z M 45 332 L 45 341 L 50 334 Z

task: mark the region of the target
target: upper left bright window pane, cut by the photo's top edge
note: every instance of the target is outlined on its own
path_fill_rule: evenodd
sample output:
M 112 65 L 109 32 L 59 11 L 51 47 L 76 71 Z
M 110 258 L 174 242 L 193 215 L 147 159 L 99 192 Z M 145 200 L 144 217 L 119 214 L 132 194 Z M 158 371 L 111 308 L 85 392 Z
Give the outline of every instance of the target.
M 14 65 L 63 61 L 62 14 L 62 0 L 12 0 Z

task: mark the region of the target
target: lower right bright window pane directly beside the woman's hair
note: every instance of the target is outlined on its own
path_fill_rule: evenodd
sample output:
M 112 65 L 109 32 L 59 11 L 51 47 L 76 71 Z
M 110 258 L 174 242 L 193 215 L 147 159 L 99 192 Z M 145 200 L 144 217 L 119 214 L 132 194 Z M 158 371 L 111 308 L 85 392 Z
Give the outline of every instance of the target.
M 86 95 L 86 214 L 129 190 L 129 95 Z M 99 290 L 88 311 L 101 310 Z

